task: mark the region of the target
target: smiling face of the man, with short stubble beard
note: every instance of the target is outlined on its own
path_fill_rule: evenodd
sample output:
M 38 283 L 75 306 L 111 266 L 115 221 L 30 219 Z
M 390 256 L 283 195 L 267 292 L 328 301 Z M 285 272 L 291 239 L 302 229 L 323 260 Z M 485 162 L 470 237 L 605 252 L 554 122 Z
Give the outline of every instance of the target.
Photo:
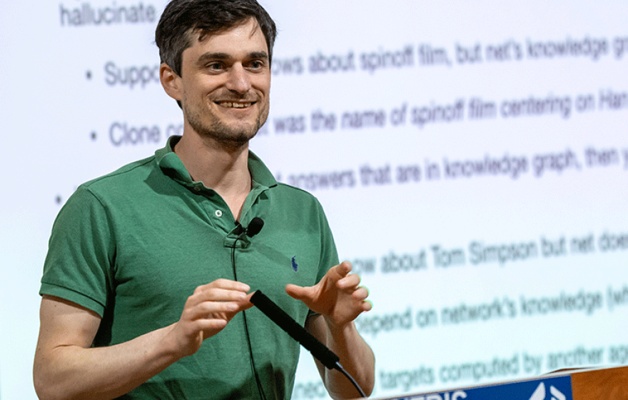
M 183 51 L 181 104 L 186 125 L 204 138 L 239 146 L 268 117 L 268 46 L 255 19 Z

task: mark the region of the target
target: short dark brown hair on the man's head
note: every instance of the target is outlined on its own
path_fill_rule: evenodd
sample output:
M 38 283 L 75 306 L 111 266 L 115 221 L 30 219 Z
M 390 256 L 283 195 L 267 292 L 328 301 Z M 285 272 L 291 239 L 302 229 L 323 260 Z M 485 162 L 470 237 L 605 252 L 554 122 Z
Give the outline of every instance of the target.
M 277 28 L 270 15 L 255 0 L 173 0 L 161 14 L 155 31 L 155 43 L 161 62 L 181 76 L 183 50 L 192 46 L 194 33 L 199 39 L 220 34 L 255 18 L 268 46 L 272 61 Z

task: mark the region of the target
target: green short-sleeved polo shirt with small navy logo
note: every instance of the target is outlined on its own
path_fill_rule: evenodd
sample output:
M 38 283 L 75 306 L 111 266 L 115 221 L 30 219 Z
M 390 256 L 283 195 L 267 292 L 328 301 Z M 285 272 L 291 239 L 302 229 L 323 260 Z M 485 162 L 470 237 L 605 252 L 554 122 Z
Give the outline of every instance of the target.
M 59 212 L 40 294 L 59 296 L 102 316 L 93 346 L 109 346 L 178 321 L 197 286 L 233 279 L 262 290 L 301 325 L 308 308 L 285 284 L 312 286 L 338 264 L 318 201 L 280 184 L 254 154 L 253 188 L 240 222 L 264 221 L 253 238 L 225 201 L 192 181 L 172 147 L 78 187 Z M 299 345 L 257 308 L 245 311 L 253 361 L 268 399 L 289 399 Z M 196 354 L 168 366 L 121 399 L 256 399 L 242 314 Z

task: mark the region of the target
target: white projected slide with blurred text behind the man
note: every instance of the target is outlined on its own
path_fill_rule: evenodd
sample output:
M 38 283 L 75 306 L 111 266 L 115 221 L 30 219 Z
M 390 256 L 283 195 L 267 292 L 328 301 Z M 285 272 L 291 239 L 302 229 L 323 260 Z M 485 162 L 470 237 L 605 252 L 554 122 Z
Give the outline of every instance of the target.
M 375 396 L 628 362 L 625 1 L 263 4 L 280 32 L 252 149 L 318 196 L 370 289 L 356 324 L 377 357 Z M 35 398 L 37 291 L 59 208 L 181 127 L 151 75 L 164 5 L 1 6 L 2 399 Z M 121 7 L 138 21 L 86 19 Z M 145 80 L 131 84 L 136 71 Z M 530 99 L 556 108 L 512 115 Z M 325 398 L 309 359 L 295 399 Z

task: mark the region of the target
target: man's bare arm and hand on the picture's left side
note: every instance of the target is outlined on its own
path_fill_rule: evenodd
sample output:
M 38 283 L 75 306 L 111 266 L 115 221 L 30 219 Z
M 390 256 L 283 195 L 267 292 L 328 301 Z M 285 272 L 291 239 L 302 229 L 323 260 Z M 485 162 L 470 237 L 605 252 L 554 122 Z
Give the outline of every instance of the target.
M 128 393 L 193 354 L 238 312 L 250 308 L 249 286 L 218 279 L 198 286 L 174 324 L 105 347 L 92 347 L 101 318 L 53 296 L 41 299 L 34 382 L 40 399 L 109 400 Z

